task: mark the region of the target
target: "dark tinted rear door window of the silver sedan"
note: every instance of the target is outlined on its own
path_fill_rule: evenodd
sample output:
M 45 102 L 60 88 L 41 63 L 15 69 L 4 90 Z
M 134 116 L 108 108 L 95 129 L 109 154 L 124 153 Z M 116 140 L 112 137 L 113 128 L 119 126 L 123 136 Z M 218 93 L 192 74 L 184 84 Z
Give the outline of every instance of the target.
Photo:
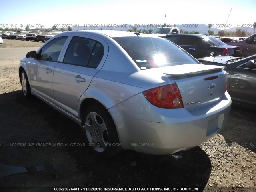
M 103 53 L 104 48 L 99 42 L 84 37 L 73 37 L 63 62 L 96 68 L 102 59 Z

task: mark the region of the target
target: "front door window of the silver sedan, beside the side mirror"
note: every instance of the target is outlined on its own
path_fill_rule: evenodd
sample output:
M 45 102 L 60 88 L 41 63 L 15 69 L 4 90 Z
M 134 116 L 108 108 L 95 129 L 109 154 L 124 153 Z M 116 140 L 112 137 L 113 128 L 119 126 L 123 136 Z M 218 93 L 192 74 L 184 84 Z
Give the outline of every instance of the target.
M 46 44 L 46 46 L 44 46 L 40 51 L 39 59 L 55 62 L 58 61 L 60 51 L 62 50 L 67 38 L 67 36 L 59 37 Z

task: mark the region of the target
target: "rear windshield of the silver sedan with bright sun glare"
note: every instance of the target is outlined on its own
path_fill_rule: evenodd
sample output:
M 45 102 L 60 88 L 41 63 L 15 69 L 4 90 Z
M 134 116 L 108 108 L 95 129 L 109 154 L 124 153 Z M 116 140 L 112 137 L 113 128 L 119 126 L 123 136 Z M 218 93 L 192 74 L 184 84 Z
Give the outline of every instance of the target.
M 196 59 L 163 38 L 113 38 L 130 55 L 141 70 L 165 66 L 196 64 Z

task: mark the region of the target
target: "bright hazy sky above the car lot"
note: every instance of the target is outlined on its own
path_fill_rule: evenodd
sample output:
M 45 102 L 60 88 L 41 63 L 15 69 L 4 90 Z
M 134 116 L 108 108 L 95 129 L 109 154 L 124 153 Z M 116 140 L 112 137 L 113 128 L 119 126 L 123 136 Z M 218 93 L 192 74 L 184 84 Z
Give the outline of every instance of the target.
M 2 28 L 164 23 L 234 27 L 256 22 L 255 0 L 8 0 L 0 5 Z

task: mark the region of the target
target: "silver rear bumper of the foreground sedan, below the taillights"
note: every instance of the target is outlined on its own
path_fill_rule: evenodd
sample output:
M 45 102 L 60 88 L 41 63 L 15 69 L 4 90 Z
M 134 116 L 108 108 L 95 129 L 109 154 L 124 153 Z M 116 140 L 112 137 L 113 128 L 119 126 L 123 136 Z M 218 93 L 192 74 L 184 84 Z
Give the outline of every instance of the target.
M 122 148 L 163 155 L 188 150 L 210 139 L 225 125 L 230 107 L 228 92 L 221 101 L 192 112 L 157 108 L 140 93 L 109 112 Z

